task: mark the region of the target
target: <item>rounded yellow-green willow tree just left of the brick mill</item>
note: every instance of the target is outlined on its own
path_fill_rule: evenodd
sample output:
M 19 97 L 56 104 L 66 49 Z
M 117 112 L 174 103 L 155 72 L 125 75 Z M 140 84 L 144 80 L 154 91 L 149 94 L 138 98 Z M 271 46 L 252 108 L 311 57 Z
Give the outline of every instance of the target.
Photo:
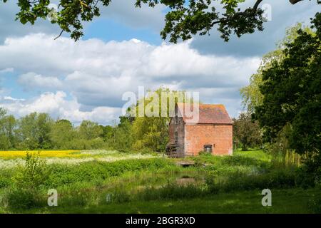
M 161 87 L 155 91 L 148 91 L 145 98 L 138 100 L 137 105 L 129 111 L 129 115 L 136 114 L 133 120 L 133 149 L 141 150 L 147 147 L 156 152 L 165 152 L 168 124 L 172 114 L 170 111 L 173 111 L 176 103 L 185 103 L 188 99 L 191 98 L 187 97 L 185 91 L 171 91 Z M 139 113 L 140 108 L 145 110 L 143 115 Z

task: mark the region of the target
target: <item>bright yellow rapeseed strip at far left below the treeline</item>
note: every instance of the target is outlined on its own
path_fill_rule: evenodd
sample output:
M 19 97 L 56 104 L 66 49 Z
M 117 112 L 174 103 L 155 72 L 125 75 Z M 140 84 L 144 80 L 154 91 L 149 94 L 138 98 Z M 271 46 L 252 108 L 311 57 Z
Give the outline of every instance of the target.
M 26 157 L 26 150 L 0 151 L 0 158 L 13 159 Z M 80 154 L 80 150 L 29 150 L 28 152 L 37 154 L 40 152 L 40 157 L 84 157 Z

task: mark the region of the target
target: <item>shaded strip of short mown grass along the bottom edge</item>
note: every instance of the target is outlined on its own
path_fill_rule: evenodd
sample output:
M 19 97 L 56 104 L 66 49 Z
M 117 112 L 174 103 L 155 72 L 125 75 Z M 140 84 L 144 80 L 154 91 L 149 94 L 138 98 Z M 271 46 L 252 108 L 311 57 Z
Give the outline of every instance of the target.
M 272 207 L 263 207 L 260 191 L 223 193 L 195 199 L 101 204 L 89 207 L 46 207 L 45 213 L 310 213 L 307 202 L 319 190 L 272 190 Z

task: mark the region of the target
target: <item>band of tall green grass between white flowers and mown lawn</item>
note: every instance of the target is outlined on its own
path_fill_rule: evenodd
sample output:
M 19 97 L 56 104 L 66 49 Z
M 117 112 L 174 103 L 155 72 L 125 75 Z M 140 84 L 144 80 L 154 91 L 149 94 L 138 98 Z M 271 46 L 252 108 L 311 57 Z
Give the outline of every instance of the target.
M 274 166 L 270 156 L 262 151 L 238 152 L 227 157 L 201 155 L 189 159 L 195 160 L 195 167 L 180 167 L 175 165 L 176 160 L 167 158 L 50 164 L 46 165 L 48 178 L 41 181 L 39 191 L 32 195 L 30 192 L 20 195 L 12 192 L 11 178 L 17 171 L 0 170 L 0 174 L 4 174 L 0 175 L 0 190 L 9 194 L 6 200 L 0 200 L 0 210 L 8 203 L 21 209 L 44 208 L 46 192 L 50 188 L 58 190 L 60 207 L 83 208 L 300 186 L 296 166 Z M 182 185 L 178 180 L 183 178 L 195 181 Z

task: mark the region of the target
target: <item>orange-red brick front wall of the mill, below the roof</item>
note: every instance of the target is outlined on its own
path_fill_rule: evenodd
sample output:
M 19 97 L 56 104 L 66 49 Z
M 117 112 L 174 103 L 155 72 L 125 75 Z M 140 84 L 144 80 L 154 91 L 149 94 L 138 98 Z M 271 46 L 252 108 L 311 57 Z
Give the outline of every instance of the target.
M 213 155 L 232 155 L 233 125 L 185 125 L 185 152 L 198 155 L 204 145 L 213 146 Z

